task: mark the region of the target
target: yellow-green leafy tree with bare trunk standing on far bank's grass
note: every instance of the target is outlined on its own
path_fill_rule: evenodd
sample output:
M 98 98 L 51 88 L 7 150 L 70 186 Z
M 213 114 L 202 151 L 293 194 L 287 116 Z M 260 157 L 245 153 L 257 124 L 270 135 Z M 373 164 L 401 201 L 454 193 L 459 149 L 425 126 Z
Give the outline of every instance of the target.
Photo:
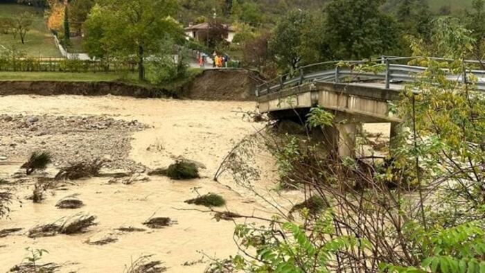
M 99 37 L 89 37 L 89 33 L 97 30 L 94 32 L 99 34 L 101 30 L 98 46 L 104 51 L 123 57 L 136 56 L 139 80 L 145 79 L 145 58 L 159 50 L 161 41 L 168 36 L 179 41 L 183 35 L 182 28 L 171 17 L 177 10 L 175 0 L 102 0 L 99 9 L 102 17 L 87 19 L 91 28 L 87 31 L 87 43 L 96 45 L 89 40 Z

